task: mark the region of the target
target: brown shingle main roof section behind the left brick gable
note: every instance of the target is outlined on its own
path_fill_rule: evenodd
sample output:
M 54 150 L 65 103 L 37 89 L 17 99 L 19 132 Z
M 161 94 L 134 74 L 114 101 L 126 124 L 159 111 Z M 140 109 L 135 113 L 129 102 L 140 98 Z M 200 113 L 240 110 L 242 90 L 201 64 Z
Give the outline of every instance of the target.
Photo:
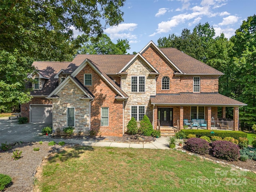
M 90 59 L 100 66 L 102 72 L 105 74 L 118 73 L 132 58 L 134 55 L 83 55 L 79 54 L 74 58 L 70 65 L 63 72 L 64 74 L 71 74 L 76 68 L 86 59 Z

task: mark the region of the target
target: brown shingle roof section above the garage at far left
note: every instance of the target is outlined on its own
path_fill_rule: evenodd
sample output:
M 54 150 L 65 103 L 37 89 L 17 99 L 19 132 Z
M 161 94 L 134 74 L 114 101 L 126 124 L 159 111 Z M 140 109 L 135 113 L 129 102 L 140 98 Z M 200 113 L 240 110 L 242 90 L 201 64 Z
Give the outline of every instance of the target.
M 57 86 L 58 79 L 54 79 L 54 76 L 61 70 L 66 69 L 70 62 L 49 62 L 49 61 L 35 61 L 33 66 L 38 69 L 41 75 L 50 78 L 46 79 L 42 90 L 32 91 L 31 95 L 44 95 L 48 96 Z

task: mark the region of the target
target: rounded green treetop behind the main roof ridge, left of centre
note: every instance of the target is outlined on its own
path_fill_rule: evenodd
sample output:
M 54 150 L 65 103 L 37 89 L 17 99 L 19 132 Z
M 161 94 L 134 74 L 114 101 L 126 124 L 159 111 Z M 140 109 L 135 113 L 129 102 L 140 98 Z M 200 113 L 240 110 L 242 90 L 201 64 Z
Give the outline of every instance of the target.
M 100 38 L 90 38 L 79 50 L 79 54 L 126 54 L 130 49 L 128 40 L 117 40 L 114 44 L 111 39 L 103 34 Z

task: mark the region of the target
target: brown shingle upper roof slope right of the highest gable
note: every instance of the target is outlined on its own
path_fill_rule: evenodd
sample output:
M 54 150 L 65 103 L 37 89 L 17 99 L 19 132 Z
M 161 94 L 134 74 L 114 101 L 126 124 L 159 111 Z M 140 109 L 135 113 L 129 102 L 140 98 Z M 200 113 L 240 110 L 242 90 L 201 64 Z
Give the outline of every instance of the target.
M 160 50 L 186 74 L 215 74 L 223 75 L 222 72 L 188 56 L 176 48 L 160 48 Z

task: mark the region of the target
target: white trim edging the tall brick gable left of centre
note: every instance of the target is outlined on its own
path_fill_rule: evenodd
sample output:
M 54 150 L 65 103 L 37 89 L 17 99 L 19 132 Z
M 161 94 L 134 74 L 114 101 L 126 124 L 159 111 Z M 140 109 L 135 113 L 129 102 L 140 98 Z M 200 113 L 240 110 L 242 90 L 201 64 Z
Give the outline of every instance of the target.
M 76 68 L 76 70 L 74 70 L 74 72 L 71 74 L 72 77 L 75 77 L 86 65 L 90 65 L 94 71 L 100 76 L 102 77 L 118 94 L 120 94 L 123 98 L 126 98 L 126 96 L 124 96 L 118 89 L 116 89 L 113 84 L 100 72 L 100 70 L 98 70 L 94 64 L 89 60 L 89 59 L 85 59 L 78 68 Z

